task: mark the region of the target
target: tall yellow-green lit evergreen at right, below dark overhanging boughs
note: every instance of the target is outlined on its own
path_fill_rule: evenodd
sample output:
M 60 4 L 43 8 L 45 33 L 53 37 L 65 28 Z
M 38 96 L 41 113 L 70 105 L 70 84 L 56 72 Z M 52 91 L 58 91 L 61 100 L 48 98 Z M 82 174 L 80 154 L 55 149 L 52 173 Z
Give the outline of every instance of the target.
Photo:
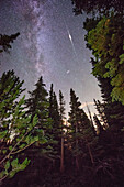
M 84 24 L 87 46 L 94 55 L 92 74 L 99 80 L 103 98 L 103 102 L 97 101 L 95 106 L 102 123 L 108 127 L 109 148 L 120 148 L 123 144 L 123 22 L 121 14 L 110 13 L 98 20 L 88 19 Z

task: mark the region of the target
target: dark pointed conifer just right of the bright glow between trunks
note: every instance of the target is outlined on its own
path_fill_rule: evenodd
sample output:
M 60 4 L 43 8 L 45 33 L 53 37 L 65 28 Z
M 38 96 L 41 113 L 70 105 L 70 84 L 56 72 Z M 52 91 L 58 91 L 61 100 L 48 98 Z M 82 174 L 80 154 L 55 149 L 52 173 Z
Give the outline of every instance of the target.
M 79 169 L 79 155 L 88 154 L 90 156 L 91 163 L 93 164 L 93 155 L 91 146 L 95 144 L 95 138 L 92 131 L 92 125 L 82 109 L 80 109 L 81 103 L 78 101 L 78 97 L 72 89 L 70 89 L 70 112 L 69 112 L 69 123 L 70 123 L 70 139 L 71 139 L 71 150 L 76 157 L 76 167 Z

